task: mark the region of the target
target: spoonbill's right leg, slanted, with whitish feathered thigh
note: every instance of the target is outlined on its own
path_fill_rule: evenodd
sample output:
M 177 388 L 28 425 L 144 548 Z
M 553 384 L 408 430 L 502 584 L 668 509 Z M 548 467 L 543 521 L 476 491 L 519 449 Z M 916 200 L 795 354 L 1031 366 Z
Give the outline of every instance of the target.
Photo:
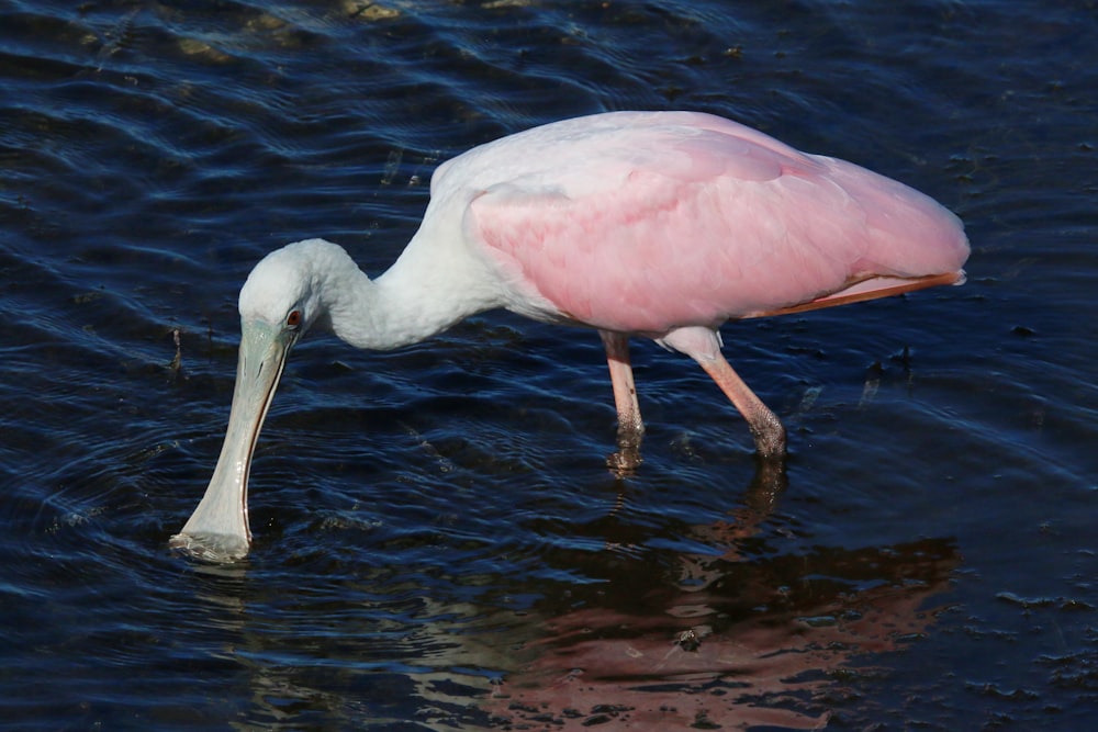
M 747 420 L 759 457 L 766 462 L 785 458 L 785 427 L 782 420 L 743 383 L 720 352 L 720 336 L 702 327 L 679 328 L 660 339 L 661 344 L 686 353 L 717 382 L 720 391 Z

